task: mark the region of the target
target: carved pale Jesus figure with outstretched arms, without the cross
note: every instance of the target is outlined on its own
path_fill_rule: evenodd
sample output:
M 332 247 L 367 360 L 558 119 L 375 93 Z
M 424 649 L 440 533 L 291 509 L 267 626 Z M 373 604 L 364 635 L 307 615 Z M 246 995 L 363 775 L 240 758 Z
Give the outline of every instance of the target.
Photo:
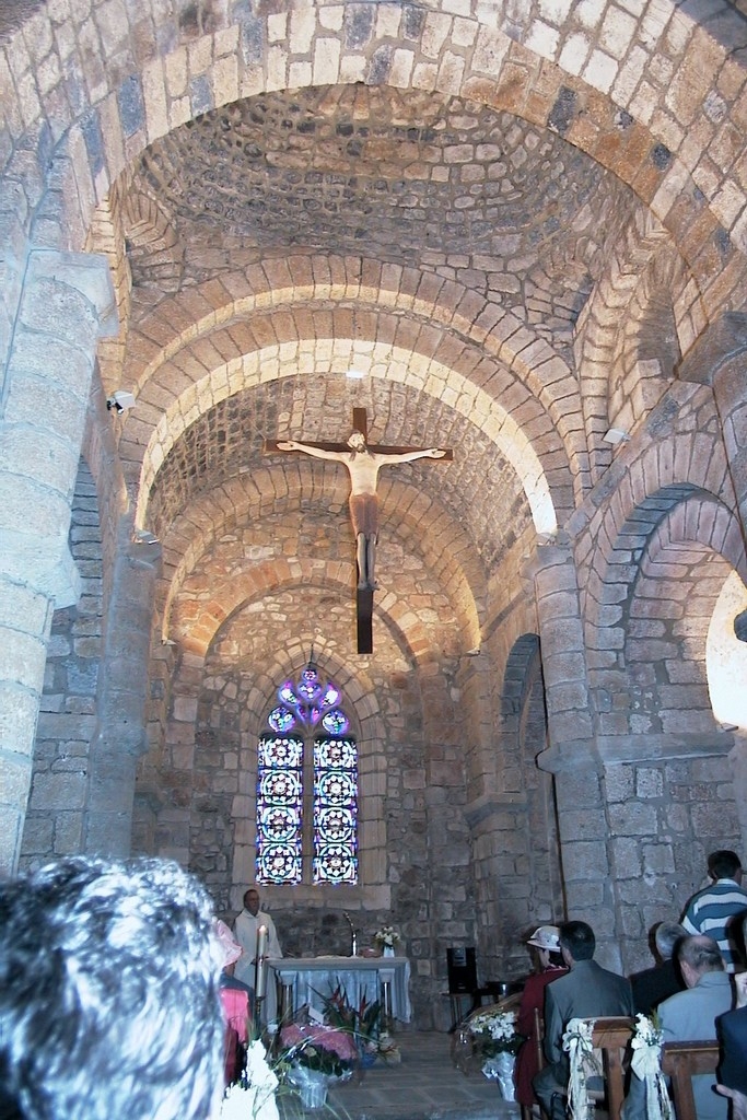
M 429 447 L 418 451 L 370 451 L 363 432 L 354 431 L 347 441 L 349 451 L 328 451 L 311 444 L 299 444 L 287 439 L 278 442 L 279 451 L 304 451 L 317 459 L 332 459 L 347 467 L 351 476 L 349 510 L 358 560 L 358 588 L 375 590 L 374 561 L 379 535 L 379 497 L 376 484 L 379 472 L 393 463 L 411 463 L 413 459 L 442 459 L 447 454 L 440 447 Z

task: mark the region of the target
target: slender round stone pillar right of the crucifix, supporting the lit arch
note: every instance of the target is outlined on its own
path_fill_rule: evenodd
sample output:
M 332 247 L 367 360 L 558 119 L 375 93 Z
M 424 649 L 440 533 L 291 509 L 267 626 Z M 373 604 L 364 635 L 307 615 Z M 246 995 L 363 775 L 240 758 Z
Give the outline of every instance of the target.
M 539 545 L 531 567 L 550 744 L 538 765 L 554 774 L 568 915 L 592 926 L 599 942 L 598 959 L 620 971 L 609 830 L 576 564 L 570 547 L 557 543 Z

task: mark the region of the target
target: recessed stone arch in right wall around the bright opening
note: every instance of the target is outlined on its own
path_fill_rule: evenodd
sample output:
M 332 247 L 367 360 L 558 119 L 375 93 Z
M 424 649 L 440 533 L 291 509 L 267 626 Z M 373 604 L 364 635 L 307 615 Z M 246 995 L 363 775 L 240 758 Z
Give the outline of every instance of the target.
M 603 738 L 706 745 L 718 731 L 708 628 L 729 573 L 747 568 L 737 517 L 702 488 L 664 487 L 638 504 L 608 563 L 607 606 L 588 634 L 604 666 L 589 673 Z

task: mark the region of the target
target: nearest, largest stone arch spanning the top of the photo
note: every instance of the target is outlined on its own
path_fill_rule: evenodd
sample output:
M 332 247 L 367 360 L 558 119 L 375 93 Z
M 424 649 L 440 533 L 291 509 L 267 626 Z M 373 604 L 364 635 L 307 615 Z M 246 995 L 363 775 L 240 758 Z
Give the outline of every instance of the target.
M 102 75 L 94 93 L 97 100 L 92 101 L 88 92 L 81 90 L 73 109 L 53 84 L 31 104 L 22 103 L 20 93 L 13 91 L 7 113 L 15 118 L 13 134 L 25 125 L 27 132 L 44 136 L 47 148 L 54 146 L 62 130 L 66 153 L 65 158 L 58 157 L 57 174 L 63 180 L 67 206 L 64 218 L 71 231 L 86 224 L 86 204 L 95 192 L 105 193 L 128 159 L 177 124 L 209 108 L 264 90 L 337 82 L 390 82 L 398 87 L 460 92 L 549 123 L 571 143 L 614 166 L 616 174 L 633 184 L 645 202 L 655 202 L 656 211 L 666 218 L 689 180 L 684 164 L 672 151 L 681 143 L 684 122 L 689 123 L 694 112 L 693 99 L 684 97 L 681 90 L 692 86 L 688 31 L 698 25 L 674 2 L 661 6 L 655 19 L 647 16 L 645 32 L 636 40 L 641 67 L 636 73 L 645 69 L 654 87 L 653 96 L 659 87 L 662 100 L 666 97 L 667 104 L 678 108 L 680 121 L 675 123 L 669 114 L 662 114 L 661 120 L 654 118 L 644 124 L 635 119 L 637 80 L 613 55 L 605 54 L 603 64 L 603 53 L 591 52 L 587 36 L 603 31 L 605 12 L 595 15 L 597 22 L 579 35 L 570 21 L 552 29 L 539 21 L 534 25 L 530 10 L 523 26 L 521 18 L 516 26 L 512 9 L 499 27 L 494 12 L 488 21 L 487 16 L 480 19 L 424 13 L 400 2 L 377 4 L 375 12 L 366 12 L 362 21 L 356 4 L 343 3 L 338 18 L 345 34 L 340 36 L 339 30 L 330 32 L 326 28 L 316 9 L 265 18 L 242 10 L 233 24 L 218 18 L 207 34 L 204 28 L 185 24 L 171 10 L 146 11 L 139 19 L 149 26 L 147 41 L 174 44 L 164 57 L 152 52 L 143 54 L 138 47 L 136 65 L 123 66 L 133 44 L 128 39 L 130 28 L 118 24 L 108 36 L 110 57 L 116 65 L 112 65 L 109 80 Z M 41 19 L 49 20 L 49 16 Z M 455 21 L 458 30 L 452 26 Z M 626 25 L 626 35 L 632 38 L 636 21 L 628 17 Z M 672 34 L 671 25 L 676 25 L 676 34 Z M 701 104 L 710 92 L 711 112 L 718 115 L 726 105 L 716 81 L 727 54 L 745 41 L 745 27 L 739 15 L 727 9 L 713 28 L 710 68 L 700 75 L 700 96 L 694 100 Z M 20 37 L 22 31 L 16 35 Z M 395 49 L 401 35 L 404 41 Z M 520 41 L 522 38 L 526 45 Z M 10 50 L 18 48 L 13 39 L 11 36 Z M 38 36 L 40 44 L 48 39 Z M 657 71 L 660 53 L 665 55 L 665 65 Z M 29 58 L 29 67 L 41 60 L 34 52 L 29 56 L 27 49 L 17 57 Z M 579 73 L 582 77 L 577 76 Z M 661 77 L 656 78 L 656 73 Z M 617 111 L 618 142 L 600 144 L 598 129 L 608 129 L 610 111 Z M 741 228 L 738 211 L 730 204 L 731 181 L 726 174 L 716 171 L 722 160 L 706 158 L 717 139 L 718 133 L 713 138 L 706 131 L 688 165 L 700 165 L 695 185 L 710 199 L 717 220 L 738 240 Z M 695 142 L 692 134 L 691 142 Z M 738 193 L 738 185 L 735 189 Z M 46 213 L 45 207 L 40 211 Z

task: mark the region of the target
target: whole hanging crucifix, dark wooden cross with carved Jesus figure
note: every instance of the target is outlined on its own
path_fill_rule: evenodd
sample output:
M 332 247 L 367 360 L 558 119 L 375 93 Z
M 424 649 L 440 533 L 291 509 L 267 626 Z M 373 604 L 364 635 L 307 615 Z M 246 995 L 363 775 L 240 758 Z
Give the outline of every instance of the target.
M 381 467 L 413 459 L 450 461 L 454 454 L 441 447 L 368 447 L 368 420 L 365 409 L 353 409 L 353 435 L 346 444 L 300 444 L 297 440 L 265 440 L 264 454 L 300 451 L 316 459 L 342 463 L 351 476 L 349 510 L 358 568 L 356 594 L 358 653 L 373 653 L 372 614 L 374 561 L 379 536 L 379 497 L 376 483 Z

